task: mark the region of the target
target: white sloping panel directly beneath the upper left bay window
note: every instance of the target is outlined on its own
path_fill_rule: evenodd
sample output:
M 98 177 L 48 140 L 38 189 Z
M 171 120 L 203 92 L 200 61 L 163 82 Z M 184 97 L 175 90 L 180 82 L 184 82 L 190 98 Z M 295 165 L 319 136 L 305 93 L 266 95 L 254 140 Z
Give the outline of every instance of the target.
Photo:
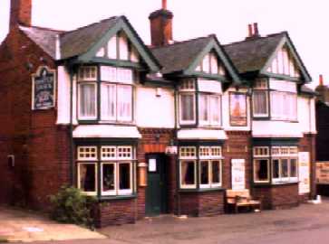
M 73 130 L 74 138 L 141 138 L 137 127 L 110 125 L 78 126 Z

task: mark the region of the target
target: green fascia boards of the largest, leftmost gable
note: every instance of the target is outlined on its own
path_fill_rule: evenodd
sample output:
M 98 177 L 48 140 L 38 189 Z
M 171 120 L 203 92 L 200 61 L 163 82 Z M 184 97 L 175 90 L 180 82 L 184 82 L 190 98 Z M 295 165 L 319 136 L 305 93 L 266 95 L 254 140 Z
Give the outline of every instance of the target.
M 128 39 L 132 42 L 133 46 L 136 48 L 137 52 L 139 52 L 140 57 L 145 61 L 150 72 L 158 72 L 160 70 L 160 64 L 155 59 L 153 54 L 149 51 L 149 49 L 145 46 L 144 42 L 140 39 L 138 34 L 132 28 L 131 23 L 127 20 L 125 16 L 119 17 L 119 20 L 115 25 L 105 33 L 99 42 L 96 42 L 92 45 L 92 48 L 83 53 L 78 57 L 79 61 L 82 62 L 90 62 L 95 57 L 96 53 L 104 46 L 107 42 L 118 32 L 123 31 Z

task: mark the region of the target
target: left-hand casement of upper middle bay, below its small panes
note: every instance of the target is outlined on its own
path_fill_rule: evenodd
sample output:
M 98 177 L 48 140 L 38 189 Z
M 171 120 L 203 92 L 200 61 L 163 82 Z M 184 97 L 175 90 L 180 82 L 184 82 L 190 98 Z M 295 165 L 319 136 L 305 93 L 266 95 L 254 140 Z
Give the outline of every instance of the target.
M 196 122 L 196 104 L 194 93 L 179 94 L 180 124 L 188 125 Z

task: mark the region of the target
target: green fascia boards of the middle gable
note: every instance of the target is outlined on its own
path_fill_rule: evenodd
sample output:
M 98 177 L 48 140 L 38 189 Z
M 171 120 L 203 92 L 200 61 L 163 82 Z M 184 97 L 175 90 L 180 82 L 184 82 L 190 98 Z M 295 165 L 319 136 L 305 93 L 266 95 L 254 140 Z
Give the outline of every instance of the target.
M 220 47 L 219 42 L 217 42 L 215 40 L 215 38 L 216 37 L 214 37 L 213 39 L 211 39 L 208 42 L 208 45 L 203 49 L 202 52 L 200 52 L 198 54 L 198 57 L 189 65 L 189 68 L 187 70 L 184 70 L 184 74 L 185 75 L 195 75 L 195 74 L 202 73 L 202 72 L 196 71 L 198 64 L 203 60 L 204 56 L 208 52 L 210 52 L 212 49 L 214 49 L 217 52 L 219 59 L 224 63 L 224 66 L 228 70 L 228 73 L 232 77 L 233 81 L 237 84 L 241 83 L 241 80 L 239 79 L 239 77 L 237 75 L 237 71 L 234 68 L 232 62 L 229 60 L 229 58 L 227 57 L 227 54 Z M 215 76 L 218 77 L 218 80 L 222 79 L 222 77 L 220 77 L 219 75 L 215 75 Z

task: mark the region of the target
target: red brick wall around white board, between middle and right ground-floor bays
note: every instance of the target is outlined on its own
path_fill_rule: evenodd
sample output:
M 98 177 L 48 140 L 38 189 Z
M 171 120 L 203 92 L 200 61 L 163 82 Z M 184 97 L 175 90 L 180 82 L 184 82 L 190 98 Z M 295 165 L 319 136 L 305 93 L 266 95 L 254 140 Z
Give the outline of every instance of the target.
M 223 164 L 223 187 L 231 189 L 231 160 L 245 159 L 246 165 L 246 188 L 250 188 L 250 179 L 252 176 L 251 167 L 251 133 L 249 131 L 227 131 L 227 140 L 223 147 L 225 157 Z

